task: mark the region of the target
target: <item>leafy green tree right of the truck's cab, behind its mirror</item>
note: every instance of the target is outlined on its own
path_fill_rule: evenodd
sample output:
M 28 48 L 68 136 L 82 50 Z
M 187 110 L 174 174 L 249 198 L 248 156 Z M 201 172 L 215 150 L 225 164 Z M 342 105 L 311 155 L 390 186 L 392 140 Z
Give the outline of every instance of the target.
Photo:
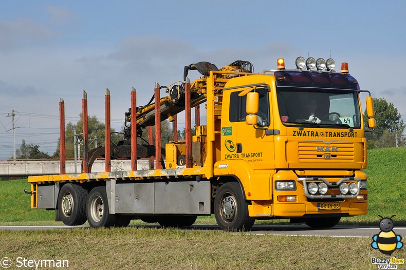
M 387 103 L 385 99 L 374 98 L 376 128 L 373 132 L 366 132 L 365 137 L 368 148 L 371 147 L 394 147 L 396 137 L 403 142 L 403 131 L 406 125 L 403 123 L 400 113 L 392 103 Z M 367 123 L 366 110 L 364 112 L 364 122 Z

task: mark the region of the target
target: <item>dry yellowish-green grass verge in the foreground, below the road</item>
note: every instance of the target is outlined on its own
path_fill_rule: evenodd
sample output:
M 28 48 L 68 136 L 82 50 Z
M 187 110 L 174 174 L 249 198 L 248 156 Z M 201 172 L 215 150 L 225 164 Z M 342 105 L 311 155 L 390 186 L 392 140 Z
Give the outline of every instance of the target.
M 0 257 L 9 257 L 14 265 L 18 257 L 68 260 L 69 269 L 378 269 L 371 257 L 387 256 L 370 244 L 370 238 L 142 227 L 0 230 Z M 406 249 L 393 255 L 405 258 Z

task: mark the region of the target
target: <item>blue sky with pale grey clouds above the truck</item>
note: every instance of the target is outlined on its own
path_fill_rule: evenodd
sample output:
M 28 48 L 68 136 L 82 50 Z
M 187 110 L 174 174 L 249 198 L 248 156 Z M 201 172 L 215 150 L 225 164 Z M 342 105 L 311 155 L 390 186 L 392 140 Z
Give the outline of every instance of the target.
M 104 122 L 108 88 L 120 130 L 132 87 L 144 105 L 155 82 L 182 80 L 200 61 L 246 60 L 262 72 L 279 57 L 294 69 L 298 56 L 331 56 L 406 120 L 404 11 L 406 1 L 2 0 L 0 159 L 12 157 L 12 110 L 16 148 L 24 139 L 52 155 L 61 98 L 66 123 L 78 121 L 83 90 L 88 114 Z

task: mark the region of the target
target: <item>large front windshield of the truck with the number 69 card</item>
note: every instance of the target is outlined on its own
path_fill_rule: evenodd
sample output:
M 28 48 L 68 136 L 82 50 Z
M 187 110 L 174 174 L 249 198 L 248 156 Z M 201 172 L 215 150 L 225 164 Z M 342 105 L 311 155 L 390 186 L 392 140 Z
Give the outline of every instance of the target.
M 279 87 L 276 92 L 279 114 L 285 125 L 361 126 L 357 91 Z

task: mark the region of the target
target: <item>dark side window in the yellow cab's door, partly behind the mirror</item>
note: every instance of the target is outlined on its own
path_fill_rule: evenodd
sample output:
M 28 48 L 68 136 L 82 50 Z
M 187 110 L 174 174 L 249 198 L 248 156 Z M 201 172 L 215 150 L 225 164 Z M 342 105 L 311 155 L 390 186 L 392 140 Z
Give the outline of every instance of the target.
M 256 88 L 260 93 L 260 107 L 258 111 L 258 125 L 269 126 L 269 96 L 267 88 Z M 245 122 L 247 96 L 238 97 L 239 92 L 233 92 L 230 95 L 230 122 Z

